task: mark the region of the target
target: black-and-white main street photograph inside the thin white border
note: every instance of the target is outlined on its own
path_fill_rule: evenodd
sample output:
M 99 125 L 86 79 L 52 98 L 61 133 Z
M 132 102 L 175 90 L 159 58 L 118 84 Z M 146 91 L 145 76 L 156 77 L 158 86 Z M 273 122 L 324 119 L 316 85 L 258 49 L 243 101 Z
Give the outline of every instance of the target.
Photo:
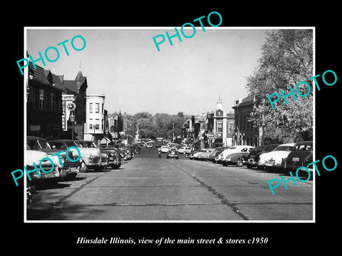
M 193 23 L 25 28 L 26 222 L 314 221 L 315 29 Z

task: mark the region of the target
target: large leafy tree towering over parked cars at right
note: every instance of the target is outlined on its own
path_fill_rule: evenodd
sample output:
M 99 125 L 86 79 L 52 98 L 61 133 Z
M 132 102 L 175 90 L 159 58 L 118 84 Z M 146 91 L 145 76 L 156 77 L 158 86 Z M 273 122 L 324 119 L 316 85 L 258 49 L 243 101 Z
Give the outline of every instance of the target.
M 264 137 L 279 142 L 312 139 L 313 95 L 307 97 L 287 97 L 276 102 L 272 109 L 267 95 L 279 90 L 291 92 L 289 86 L 296 88 L 301 81 L 313 76 L 313 38 L 311 29 L 281 29 L 267 33 L 268 38 L 262 46 L 262 56 L 254 74 L 247 78 L 249 95 L 256 95 L 259 105 L 254 107 L 250 120 L 264 127 Z M 299 87 L 302 95 L 306 87 Z

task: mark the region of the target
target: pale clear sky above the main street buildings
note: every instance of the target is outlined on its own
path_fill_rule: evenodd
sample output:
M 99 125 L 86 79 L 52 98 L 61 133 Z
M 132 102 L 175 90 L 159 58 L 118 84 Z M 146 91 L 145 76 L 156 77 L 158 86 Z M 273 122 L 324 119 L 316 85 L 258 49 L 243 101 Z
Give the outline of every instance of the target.
M 190 36 L 192 28 L 185 28 Z M 175 35 L 175 27 L 32 27 L 26 28 L 26 50 L 36 60 L 38 51 L 44 55 L 46 48 L 58 48 L 55 62 L 44 57 L 46 65 L 40 60 L 36 65 L 64 75 L 65 80 L 75 79 L 81 66 L 87 93 L 104 94 L 108 113 L 202 114 L 216 110 L 219 95 L 223 110 L 232 112 L 234 101 L 247 97 L 246 77 L 257 68 L 266 30 L 205 27 L 202 31 L 199 26 L 192 38 L 181 32 L 181 42 L 177 36 L 172 38 L 173 46 L 166 31 Z M 158 51 L 152 38 L 160 34 L 165 42 Z M 71 46 L 78 35 L 86 40 L 79 51 Z M 57 46 L 66 40 L 68 56 L 63 46 Z M 83 46 L 81 38 L 74 43 L 76 48 Z M 48 58 L 55 59 L 56 52 L 48 50 Z

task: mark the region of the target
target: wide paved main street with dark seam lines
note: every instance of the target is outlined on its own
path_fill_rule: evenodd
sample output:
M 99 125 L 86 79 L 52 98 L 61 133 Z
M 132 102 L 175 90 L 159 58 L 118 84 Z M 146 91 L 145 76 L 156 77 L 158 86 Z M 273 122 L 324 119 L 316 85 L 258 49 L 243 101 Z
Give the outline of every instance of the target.
M 313 185 L 267 181 L 279 174 L 246 167 L 158 158 L 142 149 L 118 170 L 81 173 L 41 189 L 28 220 L 312 220 Z

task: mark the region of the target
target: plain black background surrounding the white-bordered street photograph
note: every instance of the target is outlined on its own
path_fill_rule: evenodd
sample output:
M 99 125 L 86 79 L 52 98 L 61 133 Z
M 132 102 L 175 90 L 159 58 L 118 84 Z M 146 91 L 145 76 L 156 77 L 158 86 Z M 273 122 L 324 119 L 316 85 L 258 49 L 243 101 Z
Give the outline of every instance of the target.
M 69 3 L 48 4 L 26 2 L 25 6 L 9 9 L 9 16 L 1 18 L 2 36 L 2 75 L 3 80 L 3 129 L 2 178 L 5 185 L 2 191 L 1 210 L 4 233 L 1 243 L 11 250 L 20 248 L 26 252 L 73 252 L 83 253 L 90 249 L 118 249 L 170 251 L 177 249 L 203 250 L 212 253 L 244 250 L 264 253 L 309 252 L 315 248 L 333 250 L 338 245 L 337 228 L 339 221 L 339 183 L 341 178 L 341 102 L 338 88 L 341 86 L 341 58 L 338 47 L 340 26 L 339 7 L 327 1 L 318 4 L 299 4 L 289 1 L 272 5 L 246 1 L 232 4 L 207 3 L 185 4 L 157 2 L 138 6 L 130 2 L 123 6 L 118 2 L 105 4 L 80 2 L 74 6 Z M 313 2 L 314 3 L 314 2 Z M 316 2 L 317 3 L 317 2 Z M 18 4 L 19 5 L 19 4 Z M 8 8 L 8 7 L 7 7 Z M 314 26 L 316 27 L 316 74 L 333 70 L 338 81 L 333 86 L 320 83 L 321 91 L 316 90 L 316 159 L 333 155 L 338 159 L 334 171 L 321 171 L 316 176 L 316 223 L 24 223 L 23 183 L 16 187 L 11 171 L 24 166 L 24 87 L 16 60 L 24 58 L 24 26 L 182 26 L 200 16 L 218 11 L 222 16 L 221 26 Z M 6 11 L 4 10 L 4 13 Z M 206 22 L 206 21 L 205 21 Z M 212 21 L 212 23 L 215 23 Z M 195 25 L 197 26 L 197 25 Z M 204 23 L 204 26 L 206 24 Z M 152 40 L 152 39 L 151 39 Z M 193 38 L 192 40 L 196 40 Z M 5 58 L 4 58 L 5 56 Z M 177 75 L 177 74 L 175 74 Z M 321 80 L 318 80 L 318 82 Z M 5 143 L 6 142 L 6 143 Z M 266 237 L 266 245 L 76 245 L 78 237 L 85 238 L 234 238 L 249 239 Z M 4 248 L 5 249 L 5 248 Z M 272 249 L 272 250 L 271 250 Z M 10 251 L 11 252 L 11 251 Z

